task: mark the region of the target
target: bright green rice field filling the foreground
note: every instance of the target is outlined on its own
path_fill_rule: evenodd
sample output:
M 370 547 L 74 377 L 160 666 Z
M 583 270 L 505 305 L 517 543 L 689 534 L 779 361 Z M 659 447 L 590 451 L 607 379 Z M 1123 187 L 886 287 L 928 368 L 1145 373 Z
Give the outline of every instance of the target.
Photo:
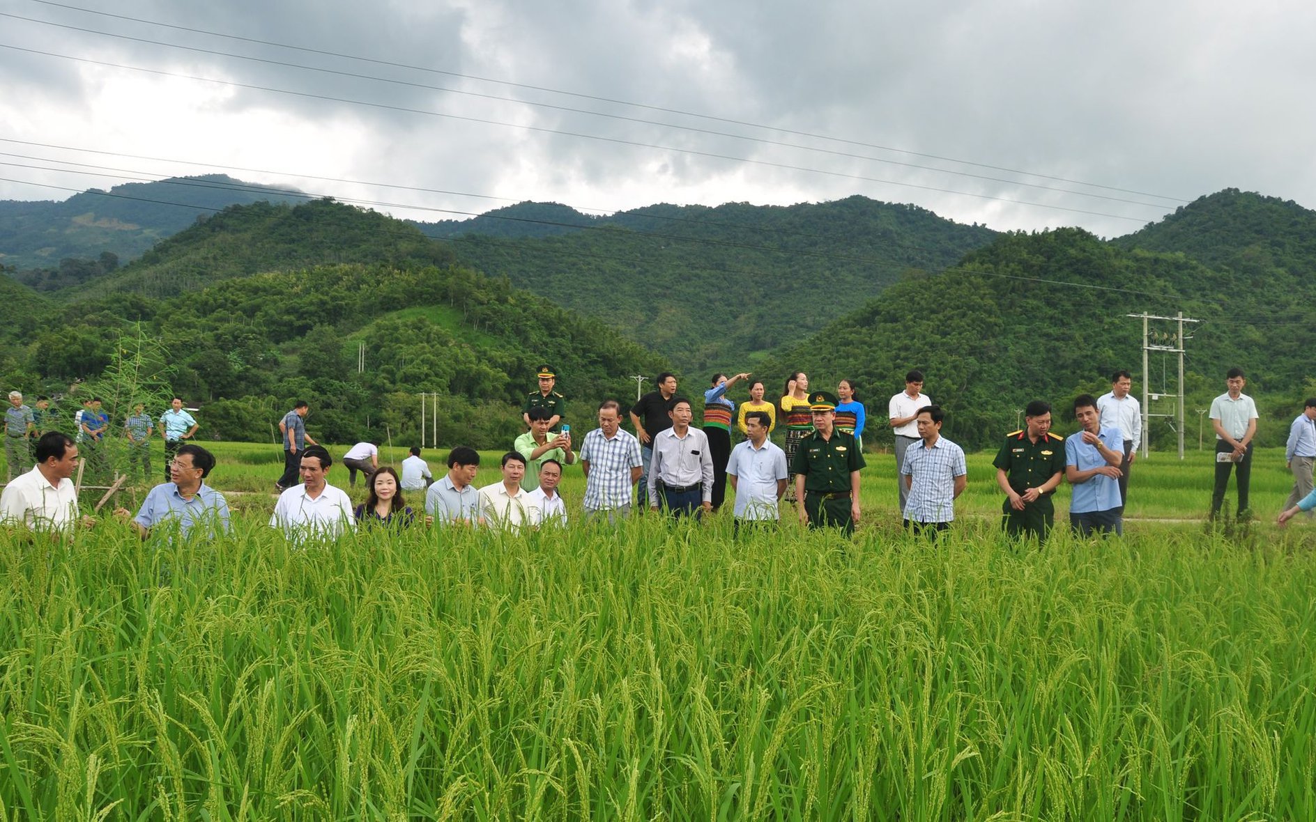
M 1182 522 L 1205 456 L 1134 466 L 1123 541 L 1005 542 L 990 455 L 950 538 L 911 539 L 875 455 L 853 542 L 644 517 L 292 550 L 278 450 L 216 451 L 229 538 L 0 538 L 4 818 L 1316 818 L 1316 529 Z M 1254 508 L 1286 493 L 1258 454 Z

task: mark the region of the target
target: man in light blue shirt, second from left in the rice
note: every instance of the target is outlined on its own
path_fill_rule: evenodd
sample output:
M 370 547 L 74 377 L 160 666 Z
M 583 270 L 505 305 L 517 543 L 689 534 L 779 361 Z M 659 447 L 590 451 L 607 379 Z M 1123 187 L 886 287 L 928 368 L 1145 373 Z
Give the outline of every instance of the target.
M 215 456 L 201 446 L 179 446 L 170 462 L 172 481 L 151 488 L 133 517 L 138 533 L 145 538 L 157 526 L 168 529 L 175 525 L 184 538 L 196 526 L 212 537 L 228 533 L 229 504 L 222 493 L 203 481 L 213 467 Z M 125 518 L 129 516 L 124 508 L 114 513 Z

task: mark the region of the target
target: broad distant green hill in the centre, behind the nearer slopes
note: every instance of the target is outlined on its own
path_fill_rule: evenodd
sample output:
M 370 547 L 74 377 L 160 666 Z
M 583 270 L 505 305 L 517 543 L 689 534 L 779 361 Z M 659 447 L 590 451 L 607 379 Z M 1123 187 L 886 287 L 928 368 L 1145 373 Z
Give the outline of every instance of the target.
M 791 206 L 653 205 L 599 218 L 562 208 L 499 213 L 591 228 L 520 239 L 507 237 L 512 220 L 445 230 L 463 263 L 597 317 L 695 371 L 750 367 L 908 271 L 951 266 L 996 237 L 858 196 Z

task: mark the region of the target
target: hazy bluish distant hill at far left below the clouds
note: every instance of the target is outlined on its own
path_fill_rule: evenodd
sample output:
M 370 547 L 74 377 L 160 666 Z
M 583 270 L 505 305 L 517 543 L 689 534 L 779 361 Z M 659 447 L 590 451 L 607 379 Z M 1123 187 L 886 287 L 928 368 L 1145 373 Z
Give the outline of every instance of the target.
M 128 262 L 225 206 L 305 200 L 287 191 L 209 174 L 125 183 L 62 201 L 0 200 L 0 264 L 53 268 L 62 259 L 97 259 L 104 251 Z

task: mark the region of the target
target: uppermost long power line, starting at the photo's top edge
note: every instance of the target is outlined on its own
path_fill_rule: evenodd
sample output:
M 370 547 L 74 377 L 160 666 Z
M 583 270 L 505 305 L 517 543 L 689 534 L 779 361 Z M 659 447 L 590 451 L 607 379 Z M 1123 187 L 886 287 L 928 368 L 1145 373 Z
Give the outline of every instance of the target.
M 545 92 L 545 93 L 553 93 L 553 95 L 562 95 L 562 96 L 569 96 L 569 97 L 576 97 L 576 99 L 580 99 L 580 100 L 594 100 L 596 103 L 608 103 L 608 104 L 613 104 L 613 105 L 625 105 L 625 107 L 630 107 L 630 108 L 646 109 L 646 110 L 653 110 L 653 112 L 662 112 L 662 113 L 667 113 L 667 114 L 680 114 L 683 117 L 695 117 L 695 118 L 700 118 L 700 120 L 708 120 L 708 121 L 712 121 L 712 122 L 725 122 L 728 125 L 740 125 L 740 126 L 746 126 L 746 128 L 751 128 L 751 129 L 761 129 L 761 130 L 767 130 L 767 132 L 776 132 L 776 133 L 780 133 L 780 134 L 792 134 L 792 135 L 796 135 L 796 137 L 808 137 L 811 139 L 825 139 L 825 141 L 830 141 L 830 142 L 838 142 L 838 143 L 845 143 L 845 145 L 851 145 L 851 146 L 858 146 L 858 147 L 865 147 L 865 149 L 876 149 L 876 150 L 880 150 L 880 151 L 892 151 L 892 153 L 896 153 L 896 154 L 905 154 L 905 155 L 909 155 L 909 157 L 921 157 L 921 158 L 925 158 L 925 159 L 936 159 L 936 160 L 942 160 L 942 162 L 948 162 L 948 163 L 959 163 L 962 166 L 973 166 L 973 167 L 976 167 L 976 168 L 987 168 L 987 170 L 991 170 L 991 171 L 1003 171 L 1003 172 L 1007 172 L 1007 174 L 1019 174 L 1019 175 L 1024 175 L 1024 176 L 1032 176 L 1032 178 L 1038 178 L 1038 179 L 1044 179 L 1044 180 L 1051 180 L 1051 181 L 1055 181 L 1055 183 L 1069 183 L 1071 185 L 1086 185 L 1088 188 L 1100 188 L 1103 191 L 1115 191 L 1115 192 L 1126 193 L 1126 195 L 1136 195 L 1136 196 L 1141 196 L 1141 197 L 1155 197 L 1155 199 L 1159 199 L 1159 200 L 1174 200 L 1174 201 L 1178 201 L 1178 203 L 1190 203 L 1190 200 L 1187 200 L 1184 197 L 1177 197 L 1177 196 L 1169 196 L 1169 195 L 1157 195 L 1157 193 L 1152 193 L 1152 192 L 1136 191 L 1136 189 L 1129 189 L 1129 188 L 1119 188 L 1119 187 L 1113 187 L 1113 185 L 1103 185 L 1100 183 L 1088 183 L 1088 181 L 1084 181 L 1084 180 L 1075 180 L 1075 179 L 1070 179 L 1070 178 L 1062 178 L 1062 176 L 1038 174 L 1038 172 L 1033 172 L 1033 171 L 1020 171 L 1020 170 L 1008 168 L 1008 167 L 1004 167 L 1004 166 L 994 166 L 994 164 L 988 164 L 988 163 L 976 163 L 976 162 L 973 162 L 973 160 L 966 160 L 966 159 L 959 159 L 959 158 L 953 158 L 953 157 L 944 157 L 944 155 L 937 155 L 937 154 L 928 154 L 928 153 L 923 153 L 923 151 L 911 151 L 908 149 L 898 149 L 898 147 L 883 146 L 883 145 L 878 145 L 878 143 L 870 143 L 870 142 L 862 142 L 862 141 L 855 141 L 855 139 L 846 139 L 846 138 L 840 138 L 840 137 L 832 137 L 832 135 L 828 135 L 828 134 L 817 134 L 817 133 L 812 133 L 812 132 L 801 132 L 801 130 L 786 129 L 786 128 L 780 128 L 780 126 L 771 126 L 771 125 L 755 124 L 755 122 L 749 122 L 749 121 L 745 121 L 745 120 L 736 120 L 736 118 L 729 118 L 729 117 L 717 117 L 717 116 L 713 116 L 713 114 L 703 114 L 703 113 L 697 113 L 697 112 L 688 112 L 688 110 L 682 110 L 682 109 L 675 109 L 675 108 L 665 108 L 665 107 L 659 107 L 659 105 L 649 105 L 649 104 L 644 104 L 644 103 L 633 103 L 633 101 L 628 101 L 628 100 L 617 100 L 617 99 L 603 97 L 603 96 L 597 96 L 597 95 L 587 95 L 587 93 L 580 93 L 580 92 L 563 91 L 563 89 L 557 89 L 557 88 L 549 88 L 549 87 L 545 87 L 545 85 L 530 85 L 530 84 L 525 84 L 525 83 L 515 83 L 515 82 L 511 82 L 511 80 L 501 80 L 501 79 L 494 79 L 494 78 L 482 78 L 482 76 L 478 76 L 478 75 L 462 74 L 462 72 L 457 72 L 457 71 L 445 71 L 445 70 L 441 70 L 441 68 L 432 68 L 432 67 L 425 67 L 425 66 L 412 66 L 412 64 L 408 64 L 408 63 L 397 63 L 397 62 L 392 62 L 392 60 L 382 60 L 382 59 L 376 59 L 376 58 L 368 58 L 368 57 L 361 57 L 361 55 L 353 55 L 353 54 L 343 54 L 343 53 L 340 53 L 340 51 L 330 51 L 330 50 L 324 50 L 324 49 L 311 49 L 311 47 L 305 47 L 305 46 L 295 46 L 295 45 L 291 45 L 291 43 L 280 43 L 280 42 L 275 42 L 275 41 L 258 39 L 258 38 L 251 38 L 251 37 L 241 37 L 241 36 L 237 36 L 237 34 L 225 34 L 225 33 L 221 33 L 221 32 L 209 32 L 207 29 L 197 29 L 197 28 L 182 26 L 182 25 L 175 25 L 175 24 L 168 24 L 168 22 L 161 22 L 161 21 L 157 21 L 157 20 L 146 20 L 146 18 L 141 18 L 141 17 L 129 17 L 126 14 L 114 14 L 114 13 L 111 13 L 111 12 L 103 12 L 103 11 L 99 11 L 99 9 L 88 9 L 88 8 L 83 8 L 83 7 L 78 7 L 78 5 L 71 5 L 71 4 L 64 4 L 64 3 L 54 3 L 53 0 L 32 0 L 32 1 L 33 3 L 39 3 L 39 4 L 47 5 L 47 7 L 55 7 L 55 8 L 63 8 L 63 9 L 70 9 L 70 11 L 75 11 L 75 12 L 82 12 L 82 13 L 86 13 L 86 14 L 97 14 L 97 16 L 101 16 L 101 17 L 111 17 L 111 18 L 125 20 L 125 21 L 130 21 L 130 22 L 139 22 L 139 24 L 145 24 L 145 25 L 153 25 L 153 26 L 159 26 L 159 28 L 166 28 L 166 29 L 174 29 L 174 30 L 178 30 L 178 32 L 190 32 L 190 33 L 193 33 L 193 34 L 205 34 L 207 37 L 218 37 L 218 38 L 224 38 L 224 39 L 234 39 L 234 41 L 247 42 L 247 43 L 254 43 L 254 45 L 261 45 L 261 46 L 274 46 L 276 49 L 287 49 L 287 50 L 293 50 L 293 51 L 303 51 L 303 53 L 307 53 L 307 54 L 318 54 L 321 57 L 334 57 L 334 58 L 340 58 L 340 59 L 359 60 L 359 62 L 363 62 L 363 63 L 372 63 L 372 64 L 376 64 L 376 66 L 390 66 L 390 67 L 393 67 L 393 68 L 405 68 L 408 71 L 420 71 L 420 72 L 426 72 L 426 74 L 437 74 L 437 75 L 443 75 L 443 76 L 459 78 L 459 79 L 465 79 L 465 80 L 475 80 L 475 82 L 479 82 L 479 83 L 492 83 L 492 84 L 497 84 L 497 85 L 507 85 L 507 87 L 511 87 L 511 88 L 522 88 L 522 89 L 526 89 L 526 91 L 538 91 L 538 92 Z M 59 25 L 59 24 L 51 24 L 51 25 Z M 522 103 L 525 103 L 525 101 L 522 100 Z

